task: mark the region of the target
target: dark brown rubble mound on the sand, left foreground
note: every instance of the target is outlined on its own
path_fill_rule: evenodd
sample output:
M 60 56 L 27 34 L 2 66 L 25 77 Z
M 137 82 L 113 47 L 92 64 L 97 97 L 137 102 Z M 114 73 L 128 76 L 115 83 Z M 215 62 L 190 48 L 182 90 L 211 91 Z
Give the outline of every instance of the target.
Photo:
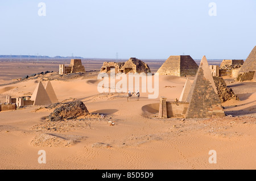
M 79 116 L 88 115 L 89 111 L 87 110 L 83 102 L 69 102 L 65 103 L 63 106 L 56 108 L 50 115 L 50 121 L 61 121 L 64 119 L 71 120 L 76 119 Z

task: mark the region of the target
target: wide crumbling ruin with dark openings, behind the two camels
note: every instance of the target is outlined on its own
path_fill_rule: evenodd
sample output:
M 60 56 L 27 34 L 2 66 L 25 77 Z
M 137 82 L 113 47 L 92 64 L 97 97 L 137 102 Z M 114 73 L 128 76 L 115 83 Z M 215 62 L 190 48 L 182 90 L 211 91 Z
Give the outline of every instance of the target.
M 137 59 L 130 58 L 126 62 L 104 62 L 101 73 L 109 73 L 110 69 L 115 69 L 115 73 L 151 73 L 146 63 Z

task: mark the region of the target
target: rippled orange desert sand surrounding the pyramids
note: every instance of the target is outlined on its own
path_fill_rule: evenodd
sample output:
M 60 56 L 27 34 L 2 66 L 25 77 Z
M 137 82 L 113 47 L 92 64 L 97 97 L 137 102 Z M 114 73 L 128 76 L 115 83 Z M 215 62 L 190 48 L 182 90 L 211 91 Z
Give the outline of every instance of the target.
M 148 93 L 127 102 L 126 94 L 99 94 L 95 78 L 51 81 L 60 102 L 82 100 L 90 113 L 106 117 L 49 123 L 53 110 L 42 106 L 2 111 L 0 169 L 256 169 L 256 83 L 225 80 L 240 98 L 223 104 L 234 117 L 185 120 L 154 117 L 157 110 L 147 105 L 159 97 Z M 31 95 L 38 81 L 0 86 L 1 102 Z M 159 82 L 159 96 L 175 100 L 185 78 L 164 75 Z M 38 163 L 39 150 L 46 151 L 46 164 Z M 217 164 L 209 163 L 210 150 Z

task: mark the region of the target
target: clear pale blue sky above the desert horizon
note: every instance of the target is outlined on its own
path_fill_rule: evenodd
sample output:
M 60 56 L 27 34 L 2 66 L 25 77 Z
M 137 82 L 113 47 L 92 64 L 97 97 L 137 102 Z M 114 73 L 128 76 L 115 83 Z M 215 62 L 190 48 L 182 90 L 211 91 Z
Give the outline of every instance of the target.
M 217 16 L 209 16 L 210 2 Z M 0 54 L 245 59 L 256 45 L 255 22 L 255 0 L 1 1 Z

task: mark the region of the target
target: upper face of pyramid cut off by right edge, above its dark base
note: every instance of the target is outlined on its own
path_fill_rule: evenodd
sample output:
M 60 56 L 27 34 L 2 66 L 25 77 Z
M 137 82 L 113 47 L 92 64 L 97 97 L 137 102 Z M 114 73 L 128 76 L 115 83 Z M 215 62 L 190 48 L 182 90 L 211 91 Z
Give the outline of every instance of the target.
M 239 72 L 248 73 L 249 71 L 256 71 L 256 46 L 251 50 Z

